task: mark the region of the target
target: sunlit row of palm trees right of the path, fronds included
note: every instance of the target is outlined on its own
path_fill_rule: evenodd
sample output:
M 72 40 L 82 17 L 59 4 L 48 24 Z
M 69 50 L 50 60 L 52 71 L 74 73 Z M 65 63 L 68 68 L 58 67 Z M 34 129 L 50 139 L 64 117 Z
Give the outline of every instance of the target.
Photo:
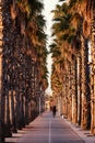
M 59 1 L 52 10 L 52 97 L 61 114 L 95 134 L 95 0 Z

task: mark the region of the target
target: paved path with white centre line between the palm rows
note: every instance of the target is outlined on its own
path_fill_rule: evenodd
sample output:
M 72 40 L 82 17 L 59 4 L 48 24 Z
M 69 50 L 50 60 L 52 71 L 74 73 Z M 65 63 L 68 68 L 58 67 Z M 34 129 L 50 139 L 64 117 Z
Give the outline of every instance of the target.
M 45 112 L 17 134 L 13 134 L 14 143 L 84 143 L 84 141 L 58 116 Z

